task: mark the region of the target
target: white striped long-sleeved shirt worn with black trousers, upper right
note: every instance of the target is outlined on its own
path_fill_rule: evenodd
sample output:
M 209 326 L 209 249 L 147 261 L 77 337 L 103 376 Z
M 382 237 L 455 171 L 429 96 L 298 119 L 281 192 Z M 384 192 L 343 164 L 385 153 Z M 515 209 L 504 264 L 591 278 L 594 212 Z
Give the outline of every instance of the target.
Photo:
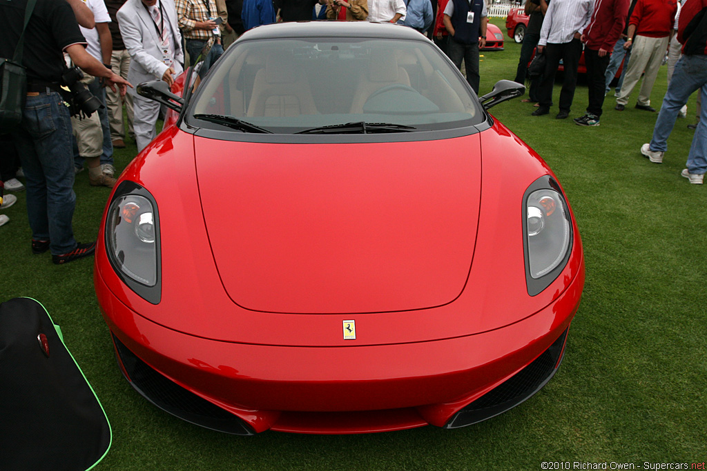
M 540 30 L 539 46 L 571 42 L 589 24 L 595 0 L 552 0 Z

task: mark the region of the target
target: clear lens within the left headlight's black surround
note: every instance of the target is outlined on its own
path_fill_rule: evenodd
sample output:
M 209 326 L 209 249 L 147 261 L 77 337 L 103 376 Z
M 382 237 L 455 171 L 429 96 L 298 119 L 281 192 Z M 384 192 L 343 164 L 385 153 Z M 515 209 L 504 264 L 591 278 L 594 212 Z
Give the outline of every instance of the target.
M 148 287 L 158 281 L 155 210 L 146 196 L 117 196 L 108 210 L 105 227 L 107 251 L 114 268 Z

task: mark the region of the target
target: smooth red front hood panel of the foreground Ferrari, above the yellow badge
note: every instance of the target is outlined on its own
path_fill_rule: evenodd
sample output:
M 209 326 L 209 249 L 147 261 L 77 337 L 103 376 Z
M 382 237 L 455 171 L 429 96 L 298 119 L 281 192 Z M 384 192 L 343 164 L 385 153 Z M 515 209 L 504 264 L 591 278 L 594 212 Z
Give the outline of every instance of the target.
M 194 148 L 214 262 L 239 306 L 406 311 L 464 290 L 479 217 L 479 134 L 296 145 L 197 137 Z

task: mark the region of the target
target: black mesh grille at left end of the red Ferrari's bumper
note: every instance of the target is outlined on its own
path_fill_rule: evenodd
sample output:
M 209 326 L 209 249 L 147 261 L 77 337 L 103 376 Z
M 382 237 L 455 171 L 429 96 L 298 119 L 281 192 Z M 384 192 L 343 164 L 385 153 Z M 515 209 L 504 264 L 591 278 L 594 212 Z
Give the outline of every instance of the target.
M 152 369 L 113 335 L 119 361 L 130 384 L 151 403 L 201 427 L 237 435 L 253 432 L 238 417 L 182 388 Z

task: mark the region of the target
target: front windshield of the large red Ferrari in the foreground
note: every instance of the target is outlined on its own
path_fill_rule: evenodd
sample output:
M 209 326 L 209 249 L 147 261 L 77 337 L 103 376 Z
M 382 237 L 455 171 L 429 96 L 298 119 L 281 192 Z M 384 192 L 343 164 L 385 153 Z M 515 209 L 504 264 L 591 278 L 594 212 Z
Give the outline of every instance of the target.
M 410 133 L 478 124 L 460 74 L 426 40 L 243 40 L 189 106 L 191 126 L 235 133 Z

